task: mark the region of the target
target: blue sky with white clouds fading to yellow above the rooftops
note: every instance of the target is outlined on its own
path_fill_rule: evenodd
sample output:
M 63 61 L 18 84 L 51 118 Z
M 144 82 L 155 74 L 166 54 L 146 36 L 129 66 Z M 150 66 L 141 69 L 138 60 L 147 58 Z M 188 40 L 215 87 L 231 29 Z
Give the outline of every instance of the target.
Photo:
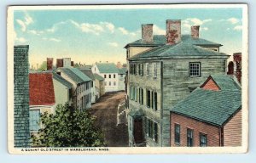
M 29 45 L 30 65 L 47 57 L 75 63 L 125 63 L 125 45 L 141 38 L 141 25 L 166 34 L 166 20 L 182 20 L 182 34 L 200 25 L 200 37 L 223 45 L 220 52 L 241 52 L 241 8 L 116 8 L 15 10 L 15 45 Z

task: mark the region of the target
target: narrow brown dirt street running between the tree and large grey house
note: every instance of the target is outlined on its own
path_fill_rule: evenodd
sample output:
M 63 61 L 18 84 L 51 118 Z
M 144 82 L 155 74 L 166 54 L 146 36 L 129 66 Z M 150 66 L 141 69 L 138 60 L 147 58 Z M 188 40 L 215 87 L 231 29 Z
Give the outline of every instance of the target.
M 108 147 L 127 147 L 128 128 L 125 116 L 125 92 L 106 93 L 91 113 L 96 116 L 96 125 L 102 128 Z

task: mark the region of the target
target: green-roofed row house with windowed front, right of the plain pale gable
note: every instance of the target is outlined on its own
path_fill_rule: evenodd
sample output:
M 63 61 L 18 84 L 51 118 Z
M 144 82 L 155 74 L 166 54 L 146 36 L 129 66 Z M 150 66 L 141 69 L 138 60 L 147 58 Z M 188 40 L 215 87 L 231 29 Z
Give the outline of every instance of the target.
M 59 67 L 57 74 L 72 84 L 72 104 L 75 109 L 91 108 L 92 81 L 80 70 L 73 67 Z

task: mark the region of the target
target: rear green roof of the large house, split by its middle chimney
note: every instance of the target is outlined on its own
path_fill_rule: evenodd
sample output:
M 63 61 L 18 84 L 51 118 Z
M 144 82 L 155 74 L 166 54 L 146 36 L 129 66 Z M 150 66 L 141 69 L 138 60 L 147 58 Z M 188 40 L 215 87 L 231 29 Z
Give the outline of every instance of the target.
M 182 35 L 181 37 L 182 42 L 189 42 L 194 45 L 200 46 L 211 46 L 211 47 L 221 47 L 222 45 L 216 42 L 210 42 L 203 38 L 192 38 L 191 35 Z M 125 48 L 128 47 L 157 47 L 166 44 L 166 35 L 154 35 L 153 42 L 143 42 L 142 39 L 139 39 L 135 42 L 128 43 L 125 45 Z

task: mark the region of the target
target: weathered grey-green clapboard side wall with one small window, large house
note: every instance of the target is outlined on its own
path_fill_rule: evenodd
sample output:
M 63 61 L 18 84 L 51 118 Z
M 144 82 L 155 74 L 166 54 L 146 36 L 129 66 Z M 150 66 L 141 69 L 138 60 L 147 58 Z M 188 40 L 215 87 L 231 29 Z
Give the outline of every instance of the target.
M 189 76 L 189 62 L 201 63 L 201 76 Z M 168 59 L 163 61 L 163 146 L 170 145 L 170 110 L 191 88 L 201 86 L 210 75 L 225 74 L 226 59 Z

